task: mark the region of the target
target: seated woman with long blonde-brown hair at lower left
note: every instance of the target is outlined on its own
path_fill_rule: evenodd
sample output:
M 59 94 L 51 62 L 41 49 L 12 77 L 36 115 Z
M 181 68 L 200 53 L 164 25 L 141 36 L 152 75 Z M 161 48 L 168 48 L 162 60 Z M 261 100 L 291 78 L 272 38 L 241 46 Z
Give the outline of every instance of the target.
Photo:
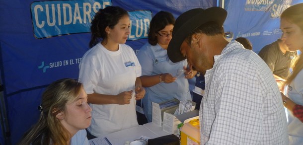
M 20 145 L 89 145 L 85 129 L 91 108 L 82 84 L 74 79 L 51 83 L 42 95 L 40 119 Z

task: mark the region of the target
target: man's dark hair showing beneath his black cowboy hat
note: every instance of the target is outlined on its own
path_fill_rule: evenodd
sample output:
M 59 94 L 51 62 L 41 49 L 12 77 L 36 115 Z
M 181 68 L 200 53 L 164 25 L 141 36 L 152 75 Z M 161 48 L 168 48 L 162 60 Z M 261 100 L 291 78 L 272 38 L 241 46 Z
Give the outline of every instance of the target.
M 185 40 L 190 44 L 192 35 L 196 33 L 204 33 L 207 36 L 215 36 L 218 34 L 225 36 L 223 26 L 215 21 L 209 21 L 200 25 L 198 28 L 194 29 L 191 34 L 185 38 Z

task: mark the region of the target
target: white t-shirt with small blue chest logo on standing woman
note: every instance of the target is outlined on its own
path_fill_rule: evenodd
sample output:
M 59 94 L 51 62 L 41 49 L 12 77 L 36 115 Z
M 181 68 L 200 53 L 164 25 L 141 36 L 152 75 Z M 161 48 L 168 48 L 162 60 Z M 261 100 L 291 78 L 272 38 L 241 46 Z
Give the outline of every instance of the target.
M 112 52 L 98 43 L 84 54 L 79 69 L 79 81 L 87 94 L 117 95 L 130 91 L 135 87 L 136 78 L 141 76 L 141 65 L 135 52 L 125 44 L 119 44 L 119 50 Z M 99 137 L 137 126 L 134 95 L 126 105 L 89 104 L 92 120 L 88 131 Z

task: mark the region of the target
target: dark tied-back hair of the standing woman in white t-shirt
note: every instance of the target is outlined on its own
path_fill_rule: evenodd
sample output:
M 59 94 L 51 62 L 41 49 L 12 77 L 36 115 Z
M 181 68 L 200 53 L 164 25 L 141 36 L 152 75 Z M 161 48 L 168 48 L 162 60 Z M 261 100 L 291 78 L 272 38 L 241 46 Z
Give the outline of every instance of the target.
M 108 26 L 113 29 L 118 21 L 126 15 L 129 16 L 128 12 L 119 6 L 107 6 L 104 9 L 99 9 L 91 21 L 91 40 L 89 47 L 95 46 L 101 40 L 107 40 L 105 28 Z

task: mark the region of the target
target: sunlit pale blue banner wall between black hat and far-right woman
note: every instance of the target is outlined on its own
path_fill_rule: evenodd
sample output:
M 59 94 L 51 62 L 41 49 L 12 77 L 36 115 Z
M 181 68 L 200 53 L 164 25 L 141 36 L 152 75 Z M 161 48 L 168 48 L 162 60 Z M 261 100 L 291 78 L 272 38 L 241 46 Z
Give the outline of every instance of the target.
M 225 0 L 225 31 L 247 38 L 258 53 L 265 45 L 281 37 L 279 15 L 287 7 L 303 0 Z

